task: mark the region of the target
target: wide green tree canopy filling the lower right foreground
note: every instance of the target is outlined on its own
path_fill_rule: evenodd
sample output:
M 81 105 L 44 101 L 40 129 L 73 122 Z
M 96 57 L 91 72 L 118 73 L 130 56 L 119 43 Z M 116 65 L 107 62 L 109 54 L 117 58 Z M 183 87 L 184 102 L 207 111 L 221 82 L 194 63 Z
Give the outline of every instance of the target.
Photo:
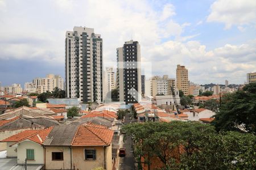
M 163 169 L 254 169 L 255 136 L 238 132 L 218 134 L 199 122 L 144 122 L 127 124 L 122 130 L 133 135 L 139 164 L 155 157 Z M 150 156 L 148 156 L 150 155 Z M 141 167 L 141 166 L 138 166 Z

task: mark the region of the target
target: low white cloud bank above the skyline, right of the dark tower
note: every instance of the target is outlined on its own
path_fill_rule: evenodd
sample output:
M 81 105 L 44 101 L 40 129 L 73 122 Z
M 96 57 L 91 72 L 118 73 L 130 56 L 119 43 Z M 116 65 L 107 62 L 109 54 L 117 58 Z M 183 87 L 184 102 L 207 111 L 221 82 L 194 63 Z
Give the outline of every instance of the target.
M 246 73 L 256 71 L 256 40 L 207 50 L 199 41 L 168 41 L 148 50 L 148 61 L 154 62 L 155 74 L 175 78 L 177 64 L 189 70 L 189 79 L 196 83 L 243 83 Z M 171 68 L 171 69 L 170 69 Z

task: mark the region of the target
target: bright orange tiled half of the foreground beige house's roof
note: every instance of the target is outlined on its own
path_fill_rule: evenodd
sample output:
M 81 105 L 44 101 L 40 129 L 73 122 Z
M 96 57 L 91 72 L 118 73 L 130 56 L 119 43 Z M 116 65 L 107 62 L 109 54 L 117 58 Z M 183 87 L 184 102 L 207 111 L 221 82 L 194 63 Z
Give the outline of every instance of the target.
M 98 125 L 80 125 L 72 146 L 108 146 L 112 142 L 114 131 Z

